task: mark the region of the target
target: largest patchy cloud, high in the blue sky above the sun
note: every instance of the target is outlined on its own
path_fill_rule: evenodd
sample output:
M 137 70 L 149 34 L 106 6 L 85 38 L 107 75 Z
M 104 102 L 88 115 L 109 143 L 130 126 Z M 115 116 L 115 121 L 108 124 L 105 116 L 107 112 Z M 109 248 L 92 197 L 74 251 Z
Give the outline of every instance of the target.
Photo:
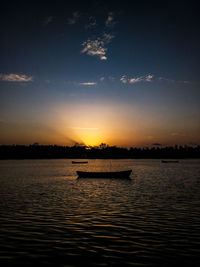
M 107 48 L 105 46 L 110 43 L 113 38 L 114 35 L 105 33 L 102 37 L 95 40 L 88 39 L 82 44 L 84 48 L 81 50 L 81 53 L 86 53 L 90 56 L 98 56 L 101 60 L 107 60 Z

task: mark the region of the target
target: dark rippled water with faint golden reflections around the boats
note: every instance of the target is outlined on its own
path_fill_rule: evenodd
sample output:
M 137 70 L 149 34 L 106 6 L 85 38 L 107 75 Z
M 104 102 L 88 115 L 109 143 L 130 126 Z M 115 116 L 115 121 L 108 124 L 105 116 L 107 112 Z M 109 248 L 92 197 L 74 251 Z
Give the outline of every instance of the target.
M 0 161 L 0 240 L 1 266 L 200 266 L 200 160 Z

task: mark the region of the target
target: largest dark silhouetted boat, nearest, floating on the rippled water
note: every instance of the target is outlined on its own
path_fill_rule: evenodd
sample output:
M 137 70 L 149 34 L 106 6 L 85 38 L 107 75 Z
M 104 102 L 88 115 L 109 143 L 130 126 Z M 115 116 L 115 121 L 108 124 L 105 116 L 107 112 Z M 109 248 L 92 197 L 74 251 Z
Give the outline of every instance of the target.
M 79 178 L 129 178 L 132 170 L 118 172 L 84 172 L 77 171 Z

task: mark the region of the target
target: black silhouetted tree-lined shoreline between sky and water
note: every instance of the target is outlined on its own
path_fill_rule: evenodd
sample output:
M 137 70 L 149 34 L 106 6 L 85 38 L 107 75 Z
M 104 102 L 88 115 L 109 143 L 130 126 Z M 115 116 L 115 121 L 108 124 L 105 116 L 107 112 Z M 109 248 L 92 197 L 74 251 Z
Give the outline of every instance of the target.
M 0 160 L 17 159 L 198 159 L 200 145 L 152 148 L 116 146 L 1 145 Z

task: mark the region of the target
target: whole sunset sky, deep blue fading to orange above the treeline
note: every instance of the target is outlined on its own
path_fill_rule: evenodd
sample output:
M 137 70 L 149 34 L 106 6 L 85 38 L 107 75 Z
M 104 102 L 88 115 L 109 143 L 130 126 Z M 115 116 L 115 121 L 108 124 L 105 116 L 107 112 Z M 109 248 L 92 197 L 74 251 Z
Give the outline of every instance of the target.
M 0 144 L 200 144 L 198 1 L 3 1 Z

